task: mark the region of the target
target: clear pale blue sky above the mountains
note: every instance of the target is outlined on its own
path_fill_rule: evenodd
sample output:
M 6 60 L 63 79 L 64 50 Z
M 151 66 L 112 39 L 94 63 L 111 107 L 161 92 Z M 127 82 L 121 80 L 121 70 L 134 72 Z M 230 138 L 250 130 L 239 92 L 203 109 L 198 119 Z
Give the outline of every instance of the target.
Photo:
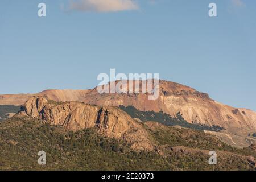
M 40 2 L 46 18 L 37 15 Z M 208 16 L 210 2 L 217 18 Z M 93 88 L 99 73 L 115 68 L 159 73 L 256 110 L 256 1 L 131 3 L 135 10 L 100 12 L 71 10 L 69 1 L 1 0 L 0 94 Z

